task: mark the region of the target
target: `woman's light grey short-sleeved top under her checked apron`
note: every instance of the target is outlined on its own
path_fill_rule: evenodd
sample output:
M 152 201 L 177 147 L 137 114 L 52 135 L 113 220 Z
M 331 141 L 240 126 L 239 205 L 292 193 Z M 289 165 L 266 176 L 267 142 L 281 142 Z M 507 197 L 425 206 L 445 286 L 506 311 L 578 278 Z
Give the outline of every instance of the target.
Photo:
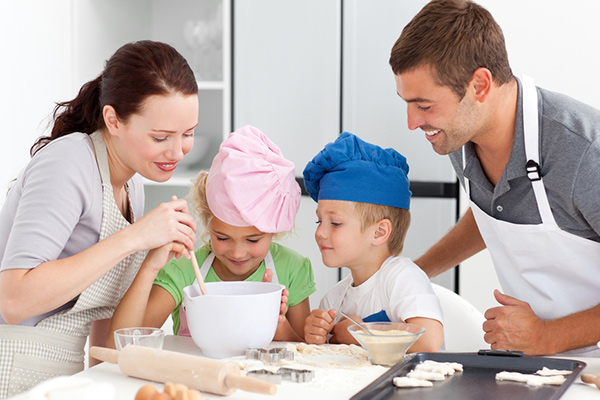
M 144 212 L 141 177 L 134 175 L 128 186 L 139 219 Z M 89 135 L 72 133 L 50 142 L 19 173 L 0 210 L 0 270 L 35 268 L 98 243 L 102 196 Z M 42 318 L 23 324 L 34 325 Z

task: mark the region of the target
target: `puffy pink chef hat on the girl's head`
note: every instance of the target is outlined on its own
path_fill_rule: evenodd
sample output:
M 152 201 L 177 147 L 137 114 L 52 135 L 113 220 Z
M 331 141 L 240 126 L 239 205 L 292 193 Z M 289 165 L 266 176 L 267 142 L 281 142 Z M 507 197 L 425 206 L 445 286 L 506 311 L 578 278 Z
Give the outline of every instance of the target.
M 208 172 L 206 197 L 215 217 L 229 225 L 286 232 L 300 207 L 300 186 L 294 164 L 279 147 L 246 125 L 221 143 Z

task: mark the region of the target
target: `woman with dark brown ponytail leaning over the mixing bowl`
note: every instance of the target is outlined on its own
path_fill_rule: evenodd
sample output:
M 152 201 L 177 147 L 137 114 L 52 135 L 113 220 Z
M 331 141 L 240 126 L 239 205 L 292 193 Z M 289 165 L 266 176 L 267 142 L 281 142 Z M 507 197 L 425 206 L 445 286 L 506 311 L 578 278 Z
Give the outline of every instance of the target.
M 82 370 L 145 251 L 194 247 L 184 200 L 140 218 L 140 175 L 166 181 L 191 150 L 197 94 L 175 49 L 141 41 L 56 106 L 0 211 L 0 398 Z

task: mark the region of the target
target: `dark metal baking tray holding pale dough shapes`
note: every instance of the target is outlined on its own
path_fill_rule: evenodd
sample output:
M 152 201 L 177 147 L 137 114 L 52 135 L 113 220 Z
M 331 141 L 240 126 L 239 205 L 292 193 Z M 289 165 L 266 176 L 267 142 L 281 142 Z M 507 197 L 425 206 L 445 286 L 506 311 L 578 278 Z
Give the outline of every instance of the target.
M 433 382 L 428 388 L 397 388 L 392 383 L 396 376 L 404 376 L 417 364 L 433 360 L 459 362 L 463 372 Z M 556 400 L 571 385 L 586 366 L 583 361 L 548 357 L 526 356 L 521 352 L 481 350 L 479 353 L 416 353 L 405 358 L 354 395 L 351 400 L 379 399 L 527 399 Z M 533 374 L 547 367 L 573 371 L 560 386 L 528 386 L 525 383 L 496 381 L 496 373 L 515 371 Z

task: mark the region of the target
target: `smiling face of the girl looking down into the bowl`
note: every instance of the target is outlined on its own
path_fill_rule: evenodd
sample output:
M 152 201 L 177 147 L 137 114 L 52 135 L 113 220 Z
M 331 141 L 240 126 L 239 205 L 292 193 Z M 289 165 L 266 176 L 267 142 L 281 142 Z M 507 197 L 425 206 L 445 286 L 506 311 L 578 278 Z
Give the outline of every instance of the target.
M 243 281 L 265 259 L 272 233 L 253 226 L 233 226 L 214 217 L 208 224 L 210 243 L 215 254 L 213 269 L 224 281 Z

